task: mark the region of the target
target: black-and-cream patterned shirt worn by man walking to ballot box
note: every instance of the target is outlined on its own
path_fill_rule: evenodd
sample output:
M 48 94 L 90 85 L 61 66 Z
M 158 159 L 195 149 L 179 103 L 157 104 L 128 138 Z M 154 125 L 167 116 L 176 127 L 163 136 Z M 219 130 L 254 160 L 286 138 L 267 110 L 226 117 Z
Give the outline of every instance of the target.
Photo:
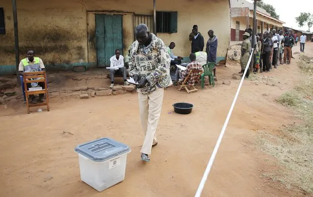
M 130 49 L 129 74 L 146 78 L 148 83 L 139 89 L 142 94 L 149 94 L 159 88 L 172 84 L 169 75 L 170 57 L 162 39 L 150 34 L 152 41 L 148 46 L 139 45 L 136 40 Z

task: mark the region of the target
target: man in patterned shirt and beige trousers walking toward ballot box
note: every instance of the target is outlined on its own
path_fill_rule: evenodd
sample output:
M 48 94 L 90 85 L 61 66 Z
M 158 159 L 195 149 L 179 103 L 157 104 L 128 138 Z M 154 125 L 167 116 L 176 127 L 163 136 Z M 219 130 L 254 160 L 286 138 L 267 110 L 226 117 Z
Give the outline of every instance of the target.
M 164 88 L 172 85 L 169 75 L 170 57 L 162 39 L 148 31 L 145 24 L 135 29 L 136 41 L 131 46 L 129 74 L 139 83 L 138 101 L 144 143 L 141 159 L 149 162 L 152 146 L 158 141 L 155 131 L 161 115 Z

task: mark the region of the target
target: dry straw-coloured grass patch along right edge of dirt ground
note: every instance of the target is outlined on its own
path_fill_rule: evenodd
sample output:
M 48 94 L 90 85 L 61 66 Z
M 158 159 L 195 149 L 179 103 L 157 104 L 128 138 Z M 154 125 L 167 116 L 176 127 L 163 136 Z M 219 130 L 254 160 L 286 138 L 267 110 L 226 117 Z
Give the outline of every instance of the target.
M 309 72 L 313 66 L 311 59 L 301 55 L 300 61 L 306 62 L 306 66 L 299 67 Z M 308 63 L 309 62 L 309 63 Z M 313 71 L 313 67 L 312 67 Z M 295 115 L 301 119 L 301 123 L 285 126 L 281 135 L 274 136 L 263 133 L 257 139 L 257 145 L 265 153 L 275 157 L 285 166 L 287 171 L 268 174 L 273 180 L 277 180 L 286 188 L 299 187 L 305 193 L 313 193 L 313 79 L 303 81 L 294 90 L 282 94 L 277 101 L 290 107 Z

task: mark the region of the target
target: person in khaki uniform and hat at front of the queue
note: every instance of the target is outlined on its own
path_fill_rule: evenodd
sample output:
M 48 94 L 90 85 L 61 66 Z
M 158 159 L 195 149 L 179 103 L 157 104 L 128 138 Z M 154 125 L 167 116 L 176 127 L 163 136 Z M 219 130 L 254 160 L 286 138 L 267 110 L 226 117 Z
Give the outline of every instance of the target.
M 241 71 L 239 72 L 239 74 L 242 73 L 242 75 L 243 75 L 245 67 L 248 64 L 249 57 L 250 57 L 249 51 L 251 49 L 251 42 L 249 40 L 250 34 L 248 32 L 245 32 L 242 36 L 243 36 L 243 42 L 241 45 L 241 57 L 240 57 Z M 250 74 L 249 69 L 250 68 L 248 68 L 248 70 L 247 70 L 247 73 L 245 76 L 246 78 L 249 77 L 249 74 Z

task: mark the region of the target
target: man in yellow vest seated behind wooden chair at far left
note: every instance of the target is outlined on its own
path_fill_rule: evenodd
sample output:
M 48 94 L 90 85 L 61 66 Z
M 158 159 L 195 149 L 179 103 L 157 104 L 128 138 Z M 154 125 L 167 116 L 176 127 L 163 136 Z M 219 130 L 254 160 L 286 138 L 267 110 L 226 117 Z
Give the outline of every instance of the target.
M 34 57 L 35 53 L 33 50 L 27 51 L 27 58 L 22 59 L 19 65 L 19 75 L 23 76 L 23 72 L 38 72 L 44 71 L 45 65 L 43 60 L 40 58 Z M 28 79 L 26 79 L 28 80 Z M 41 86 L 43 89 L 45 88 L 44 82 L 35 82 L 35 83 L 27 83 L 27 88 Z M 36 103 L 35 95 L 29 95 L 32 103 Z M 39 94 L 40 101 L 44 101 L 44 94 Z

